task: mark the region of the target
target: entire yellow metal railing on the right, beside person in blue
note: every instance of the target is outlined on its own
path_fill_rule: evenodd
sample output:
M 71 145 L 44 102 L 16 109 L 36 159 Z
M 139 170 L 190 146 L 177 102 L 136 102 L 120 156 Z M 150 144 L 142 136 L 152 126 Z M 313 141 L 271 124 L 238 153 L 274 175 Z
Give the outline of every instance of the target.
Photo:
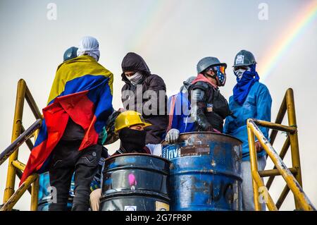
M 282 120 L 286 114 L 288 117 L 288 126 L 282 125 Z M 263 133 L 258 126 L 263 126 L 266 128 L 273 129 L 270 141 L 264 137 Z M 287 139 L 280 154 L 278 154 L 272 147 L 275 141 L 278 130 L 287 133 Z M 282 105 L 278 112 L 275 123 L 270 123 L 267 121 L 259 121 L 253 118 L 247 121 L 247 132 L 249 139 L 249 151 L 250 151 L 250 163 L 251 163 L 251 176 L 252 184 L 254 190 L 254 207 L 256 210 L 261 210 L 261 201 L 265 202 L 269 210 L 278 210 L 284 202 L 287 194 L 292 190 L 294 195 L 295 207 L 298 210 L 316 210 L 309 198 L 306 196 L 302 189 L 302 173 L 299 160 L 299 144 L 297 137 L 297 123 L 294 107 L 294 94 L 292 89 L 288 89 L 285 97 L 282 101 Z M 268 154 L 274 163 L 274 168 L 271 170 L 258 171 L 256 148 L 255 148 L 255 137 L 261 143 L 263 149 Z M 291 147 L 292 154 L 292 168 L 287 168 L 282 159 L 285 157 L 287 150 Z M 269 176 L 266 186 L 261 179 L 261 177 Z M 275 176 L 282 176 L 286 182 L 286 186 L 278 201 L 275 205 L 271 195 L 268 193 L 268 189 L 271 187 L 273 179 Z M 261 200 L 260 200 L 261 198 Z

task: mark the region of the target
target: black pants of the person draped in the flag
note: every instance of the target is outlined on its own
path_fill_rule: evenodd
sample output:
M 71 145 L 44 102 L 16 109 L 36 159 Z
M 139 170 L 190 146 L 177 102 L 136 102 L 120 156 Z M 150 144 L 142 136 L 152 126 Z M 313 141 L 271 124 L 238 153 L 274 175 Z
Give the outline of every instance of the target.
M 53 199 L 49 211 L 66 210 L 70 181 L 75 171 L 74 211 L 89 209 L 90 183 L 97 173 L 102 145 L 87 147 L 78 151 L 82 140 L 61 140 L 52 153 L 49 181 Z M 56 198 L 54 200 L 54 198 Z

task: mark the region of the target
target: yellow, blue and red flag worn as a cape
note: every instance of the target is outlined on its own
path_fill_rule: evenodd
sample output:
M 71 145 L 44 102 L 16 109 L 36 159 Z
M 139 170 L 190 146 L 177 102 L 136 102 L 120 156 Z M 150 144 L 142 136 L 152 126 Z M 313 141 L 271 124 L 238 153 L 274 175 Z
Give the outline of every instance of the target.
M 85 130 L 79 150 L 96 145 L 113 111 L 113 74 L 91 56 L 70 59 L 56 71 L 49 102 L 20 185 L 35 171 L 45 171 L 49 156 L 64 133 L 68 118 Z

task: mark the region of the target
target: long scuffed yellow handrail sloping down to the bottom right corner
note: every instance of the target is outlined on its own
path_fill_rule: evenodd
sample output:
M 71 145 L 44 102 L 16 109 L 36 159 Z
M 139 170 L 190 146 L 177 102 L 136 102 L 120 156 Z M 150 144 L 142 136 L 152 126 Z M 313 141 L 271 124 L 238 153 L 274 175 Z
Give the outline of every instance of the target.
M 263 149 L 266 150 L 266 153 L 272 159 L 278 171 L 280 171 L 280 174 L 286 181 L 287 186 L 289 186 L 290 190 L 292 190 L 294 197 L 297 199 L 297 202 L 302 207 L 302 209 L 307 211 L 316 210 L 316 208 L 313 206 L 309 198 L 304 193 L 304 190 L 298 183 L 297 179 L 294 178 L 290 170 L 287 169 L 287 166 L 285 166 L 284 162 L 282 162 L 282 159 L 280 159 L 278 153 L 275 152 L 270 142 L 268 142 L 268 140 L 264 137 L 261 130 L 254 123 L 253 119 L 248 119 L 247 126 L 250 129 L 248 134 L 251 133 L 252 131 L 254 135 L 256 135 L 256 138 L 259 139 L 259 142 L 261 142 Z M 251 150 L 250 150 L 250 156 L 251 156 Z

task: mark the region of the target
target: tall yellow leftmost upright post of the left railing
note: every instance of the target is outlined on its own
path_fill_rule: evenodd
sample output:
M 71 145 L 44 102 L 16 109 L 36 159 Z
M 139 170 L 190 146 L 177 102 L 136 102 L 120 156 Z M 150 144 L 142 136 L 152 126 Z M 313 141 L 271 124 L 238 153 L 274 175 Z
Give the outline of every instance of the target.
M 23 107 L 24 107 L 24 97 L 25 97 L 26 84 L 23 79 L 18 81 L 18 88 L 16 92 L 15 99 L 15 111 L 13 118 L 13 129 L 11 142 L 14 142 L 16 138 L 20 135 L 22 117 L 23 117 Z M 0 165 L 2 164 L 2 158 L 4 155 L 1 154 Z M 15 152 L 11 152 L 9 162 L 8 162 L 8 173 L 6 175 L 6 189 L 4 190 L 4 204 L 11 198 L 14 193 L 15 186 L 15 167 L 12 162 L 18 159 L 18 148 L 15 149 Z

